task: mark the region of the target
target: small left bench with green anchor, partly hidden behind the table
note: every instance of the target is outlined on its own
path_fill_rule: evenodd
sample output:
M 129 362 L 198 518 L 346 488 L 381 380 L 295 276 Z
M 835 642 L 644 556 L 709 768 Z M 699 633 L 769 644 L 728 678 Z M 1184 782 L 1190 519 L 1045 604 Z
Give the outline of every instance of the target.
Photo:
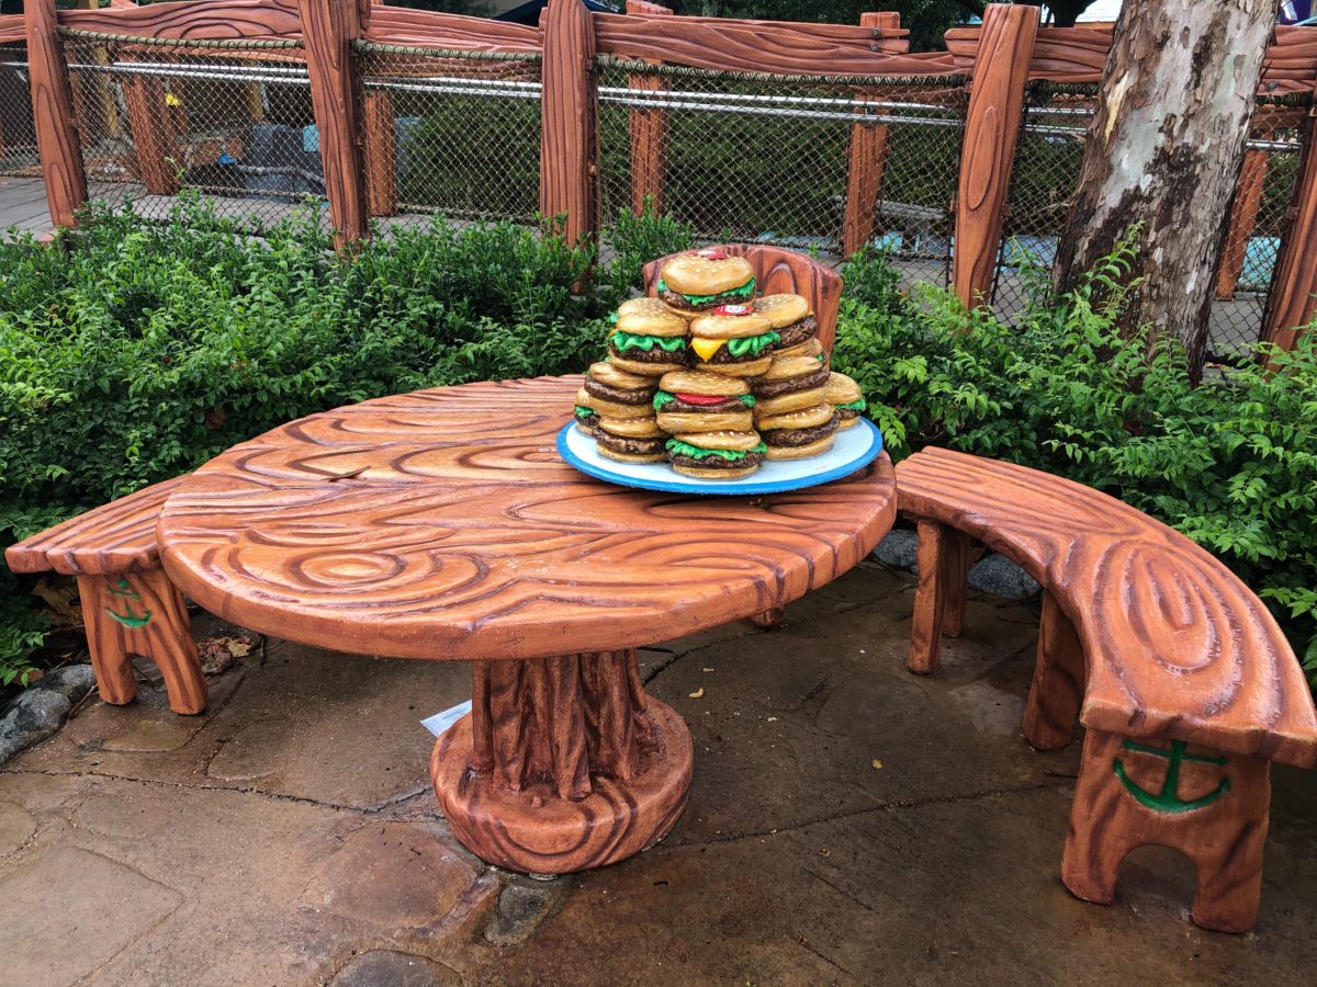
M 14 572 L 78 576 L 87 647 L 107 703 L 137 696 L 132 657 L 153 661 L 175 713 L 205 708 L 205 678 L 183 596 L 161 567 L 155 522 L 179 479 L 120 497 L 5 549 Z

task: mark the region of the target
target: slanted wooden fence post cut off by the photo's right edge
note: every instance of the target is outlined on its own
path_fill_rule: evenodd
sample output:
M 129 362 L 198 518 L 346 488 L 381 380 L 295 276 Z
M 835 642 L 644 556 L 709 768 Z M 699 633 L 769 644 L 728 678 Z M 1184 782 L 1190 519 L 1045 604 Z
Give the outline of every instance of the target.
M 1314 92 L 1317 96 L 1317 92 Z M 1308 117 L 1289 229 L 1276 258 L 1262 338 L 1292 350 L 1317 315 L 1317 120 Z

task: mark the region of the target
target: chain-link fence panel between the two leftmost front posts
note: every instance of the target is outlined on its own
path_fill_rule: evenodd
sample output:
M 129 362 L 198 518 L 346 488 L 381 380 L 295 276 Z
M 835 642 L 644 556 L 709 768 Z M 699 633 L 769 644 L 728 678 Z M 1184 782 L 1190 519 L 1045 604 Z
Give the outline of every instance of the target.
M 92 199 L 162 218 L 196 190 L 220 216 L 328 222 L 300 41 L 62 33 Z

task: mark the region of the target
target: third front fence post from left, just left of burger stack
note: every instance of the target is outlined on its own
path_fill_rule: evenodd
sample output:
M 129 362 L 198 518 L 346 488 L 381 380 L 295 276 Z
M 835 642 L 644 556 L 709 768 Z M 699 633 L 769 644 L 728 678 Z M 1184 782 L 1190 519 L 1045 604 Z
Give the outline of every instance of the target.
M 306 0 L 303 0 L 306 1 Z M 540 213 L 569 243 L 595 233 L 594 22 L 581 0 L 549 0 L 540 97 Z

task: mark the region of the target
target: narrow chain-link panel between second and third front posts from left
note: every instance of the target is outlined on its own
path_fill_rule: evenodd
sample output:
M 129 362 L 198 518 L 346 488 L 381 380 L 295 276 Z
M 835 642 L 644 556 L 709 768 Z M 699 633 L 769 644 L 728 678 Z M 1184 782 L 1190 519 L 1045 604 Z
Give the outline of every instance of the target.
M 357 46 L 373 216 L 533 221 L 540 55 Z

